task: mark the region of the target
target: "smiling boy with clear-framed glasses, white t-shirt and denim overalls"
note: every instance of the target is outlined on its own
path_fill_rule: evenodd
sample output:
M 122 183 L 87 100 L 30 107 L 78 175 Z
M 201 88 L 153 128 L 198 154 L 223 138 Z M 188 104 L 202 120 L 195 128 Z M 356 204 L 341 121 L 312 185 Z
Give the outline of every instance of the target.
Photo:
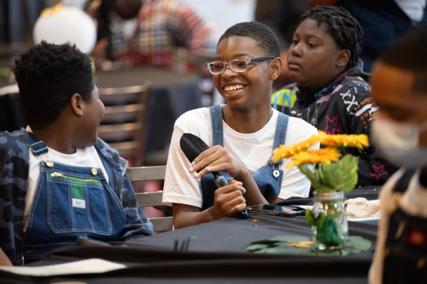
M 207 68 L 226 104 L 194 109 L 176 120 L 163 193 L 163 202 L 173 208 L 175 228 L 233 216 L 247 205 L 307 197 L 310 181 L 297 167 L 285 170 L 289 160 L 271 162 L 280 144 L 317 134 L 304 120 L 271 108 L 271 88 L 282 69 L 273 31 L 257 22 L 231 26 Z M 211 148 L 188 161 L 180 149 L 183 133 Z M 212 171 L 229 184 L 216 189 Z

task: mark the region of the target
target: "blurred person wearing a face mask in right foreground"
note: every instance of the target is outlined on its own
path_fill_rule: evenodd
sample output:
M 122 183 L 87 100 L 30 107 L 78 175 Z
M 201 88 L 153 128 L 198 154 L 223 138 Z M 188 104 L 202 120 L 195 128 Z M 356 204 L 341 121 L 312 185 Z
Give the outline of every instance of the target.
M 408 32 L 373 65 L 380 111 L 371 139 L 402 168 L 382 187 L 369 283 L 426 283 L 427 27 Z

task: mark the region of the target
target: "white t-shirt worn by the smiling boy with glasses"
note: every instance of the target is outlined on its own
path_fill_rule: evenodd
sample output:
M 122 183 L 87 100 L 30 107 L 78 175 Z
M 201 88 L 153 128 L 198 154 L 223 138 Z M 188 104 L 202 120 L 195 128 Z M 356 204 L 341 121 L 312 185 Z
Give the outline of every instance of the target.
M 238 157 L 245 164 L 251 174 L 262 166 L 269 164 L 269 157 L 273 151 L 275 126 L 279 112 L 273 109 L 273 116 L 269 122 L 255 133 L 238 133 L 231 129 L 224 121 L 224 148 Z M 180 138 L 183 133 L 192 133 L 208 146 L 212 146 L 211 116 L 208 108 L 187 111 L 175 122 L 174 133 L 171 138 L 169 156 L 163 188 L 163 204 L 186 204 L 202 207 L 202 193 L 200 179 L 189 173 L 189 160 L 180 149 Z M 285 144 L 294 144 L 317 134 L 317 129 L 299 118 L 289 118 Z M 319 144 L 312 146 L 318 149 Z M 289 197 L 307 197 L 310 191 L 310 181 L 300 172 L 298 167 L 287 169 L 290 160 L 284 160 L 281 169 L 284 171 L 282 189 L 279 196 L 282 199 Z

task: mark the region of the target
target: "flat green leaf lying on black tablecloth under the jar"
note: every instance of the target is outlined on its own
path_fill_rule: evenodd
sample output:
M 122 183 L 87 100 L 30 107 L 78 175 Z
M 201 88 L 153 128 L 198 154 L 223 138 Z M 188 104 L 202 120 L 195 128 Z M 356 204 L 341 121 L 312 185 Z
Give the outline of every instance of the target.
M 316 250 L 307 237 L 278 236 L 273 239 L 254 241 L 247 246 L 249 252 L 264 254 L 303 254 L 318 256 L 346 256 L 371 248 L 371 241 L 359 236 L 350 236 L 339 250 Z

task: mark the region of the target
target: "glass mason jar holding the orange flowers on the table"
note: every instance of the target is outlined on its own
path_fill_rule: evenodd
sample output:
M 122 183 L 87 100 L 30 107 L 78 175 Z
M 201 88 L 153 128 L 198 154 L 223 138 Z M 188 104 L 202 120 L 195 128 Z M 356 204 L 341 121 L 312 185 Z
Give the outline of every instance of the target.
M 316 250 L 339 250 L 348 237 L 344 193 L 314 192 L 311 230 Z

